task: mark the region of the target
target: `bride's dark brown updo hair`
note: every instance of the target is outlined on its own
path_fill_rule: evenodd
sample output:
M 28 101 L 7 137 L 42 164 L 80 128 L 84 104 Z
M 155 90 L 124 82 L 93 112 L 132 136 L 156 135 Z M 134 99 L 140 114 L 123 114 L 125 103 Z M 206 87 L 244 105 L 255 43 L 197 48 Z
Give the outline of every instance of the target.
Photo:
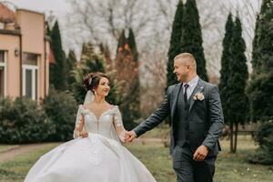
M 109 80 L 109 76 L 104 73 L 96 72 L 87 74 L 84 79 L 84 86 L 86 87 L 86 90 L 91 90 L 94 92 L 93 89 L 99 85 L 99 81 L 103 77 Z

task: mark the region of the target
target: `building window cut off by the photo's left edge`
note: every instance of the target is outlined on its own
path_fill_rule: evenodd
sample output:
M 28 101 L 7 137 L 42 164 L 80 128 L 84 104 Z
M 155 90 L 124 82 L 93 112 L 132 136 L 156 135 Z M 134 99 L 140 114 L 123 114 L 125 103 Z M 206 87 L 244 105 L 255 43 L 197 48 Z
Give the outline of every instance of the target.
M 6 53 L 0 50 L 0 96 L 5 96 L 6 89 Z

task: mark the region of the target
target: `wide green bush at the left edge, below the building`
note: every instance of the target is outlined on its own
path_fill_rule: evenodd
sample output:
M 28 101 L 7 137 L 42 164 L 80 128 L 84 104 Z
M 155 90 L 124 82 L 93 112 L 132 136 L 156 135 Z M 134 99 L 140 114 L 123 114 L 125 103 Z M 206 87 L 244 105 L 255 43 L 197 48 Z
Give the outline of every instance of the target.
M 0 98 L 0 142 L 23 144 L 42 142 L 55 126 L 41 106 L 27 97 Z

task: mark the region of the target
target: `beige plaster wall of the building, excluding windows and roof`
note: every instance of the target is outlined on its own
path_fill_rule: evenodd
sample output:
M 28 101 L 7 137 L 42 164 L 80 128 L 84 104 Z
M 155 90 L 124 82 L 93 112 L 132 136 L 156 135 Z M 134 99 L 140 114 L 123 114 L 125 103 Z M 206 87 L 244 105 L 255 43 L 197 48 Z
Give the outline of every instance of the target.
M 37 98 L 44 98 L 49 87 L 49 42 L 45 39 L 45 15 L 25 9 L 15 12 L 16 23 L 20 26 L 22 47 L 19 35 L 1 34 L 0 50 L 8 52 L 7 55 L 7 92 L 6 96 L 21 96 L 21 60 L 15 56 L 15 48 L 21 49 L 21 54 L 29 53 L 38 55 L 38 86 Z M 45 56 L 45 54 L 47 56 Z M 46 60 L 45 60 L 46 58 Z

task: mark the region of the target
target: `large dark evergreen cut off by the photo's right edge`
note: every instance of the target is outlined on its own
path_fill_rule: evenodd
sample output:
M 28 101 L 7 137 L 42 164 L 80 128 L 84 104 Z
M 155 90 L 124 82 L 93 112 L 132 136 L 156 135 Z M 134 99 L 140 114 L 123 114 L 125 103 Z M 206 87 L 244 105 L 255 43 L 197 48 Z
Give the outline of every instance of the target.
M 264 0 L 258 15 L 253 46 L 253 76 L 249 86 L 254 121 L 273 119 L 273 2 Z

